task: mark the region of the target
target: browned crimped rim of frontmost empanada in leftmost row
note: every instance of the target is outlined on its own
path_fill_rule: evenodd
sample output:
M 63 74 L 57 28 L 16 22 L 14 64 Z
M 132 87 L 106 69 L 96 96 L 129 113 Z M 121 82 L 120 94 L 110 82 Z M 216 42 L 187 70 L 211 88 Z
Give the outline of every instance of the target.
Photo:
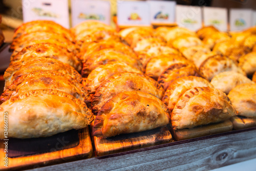
M 87 116 L 88 119 L 88 125 L 94 120 L 93 114 L 90 111 L 90 109 L 88 109 L 86 103 L 84 103 L 83 101 L 75 98 L 74 96 L 65 93 L 65 92 L 61 92 L 58 90 L 53 90 L 53 89 L 39 89 L 39 90 L 30 90 L 24 93 L 20 93 L 17 96 L 14 96 L 10 99 L 11 102 L 14 102 L 16 100 L 22 100 L 24 98 L 27 98 L 29 96 L 35 96 L 35 95 L 40 95 L 40 94 L 48 94 L 48 95 L 57 95 L 60 97 L 67 97 L 71 100 L 73 100 L 77 105 L 80 106 L 81 111 L 84 112 L 84 114 Z

